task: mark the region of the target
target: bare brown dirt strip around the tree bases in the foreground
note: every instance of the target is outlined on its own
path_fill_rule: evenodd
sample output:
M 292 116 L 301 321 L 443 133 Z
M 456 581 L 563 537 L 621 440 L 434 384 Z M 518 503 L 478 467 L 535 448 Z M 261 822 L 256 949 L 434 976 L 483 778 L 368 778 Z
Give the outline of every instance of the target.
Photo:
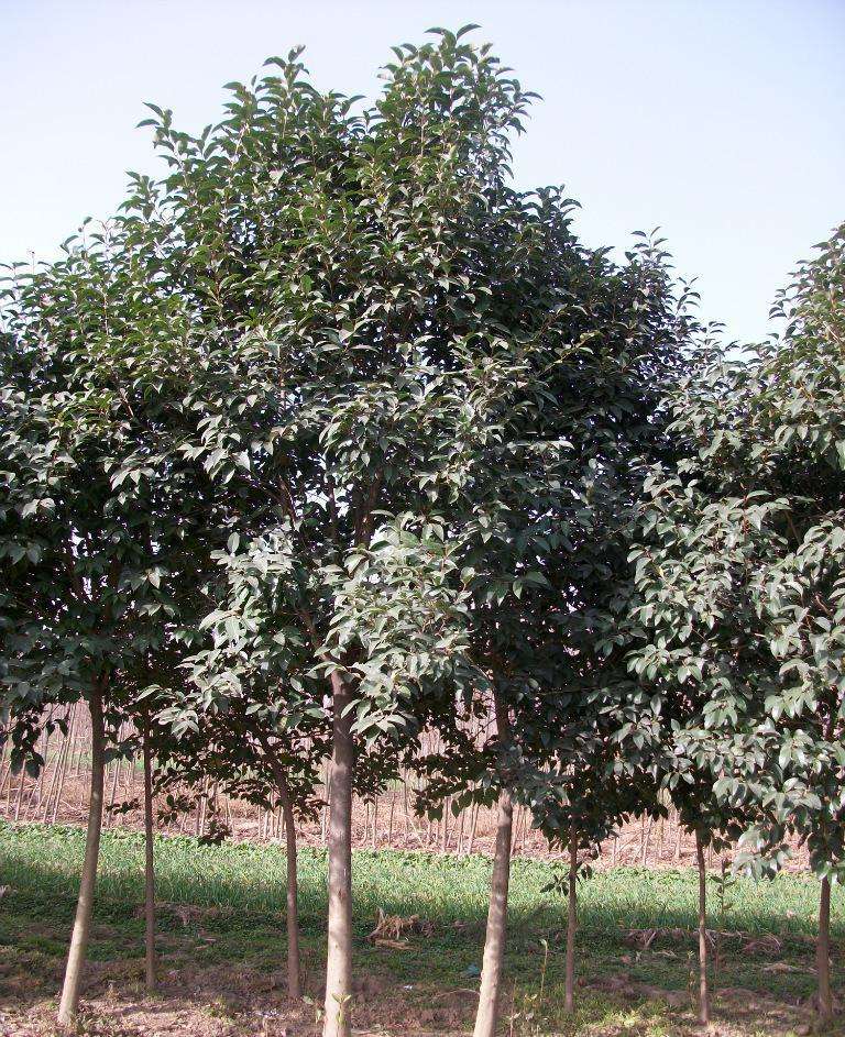
M 251 969 L 189 964 L 163 969 L 158 991 L 141 986 L 142 962 L 91 962 L 81 1005 L 79 1037 L 316 1037 L 320 1033 L 318 990 L 300 1004 L 284 994 L 284 977 Z M 41 973 L 41 974 L 39 974 Z M 55 1037 L 59 972 L 28 969 L 13 949 L 0 953 L 0 1037 Z M 315 978 L 316 980 L 317 978 Z M 315 982 L 314 986 L 318 988 Z M 355 984 L 356 1037 L 456 1037 L 471 1029 L 475 991 L 417 991 L 396 988 L 371 973 Z M 692 1037 L 701 1035 L 685 991 L 663 991 L 632 982 L 625 973 L 582 983 L 578 1016 L 546 1022 L 536 1001 L 506 996 L 502 1033 L 508 1037 Z M 801 1037 L 815 1033 L 811 1005 L 789 1005 L 758 993 L 718 993 L 712 1037 Z M 535 1010 L 535 1011 L 533 1011 Z M 838 1026 L 832 1035 L 845 1033 Z

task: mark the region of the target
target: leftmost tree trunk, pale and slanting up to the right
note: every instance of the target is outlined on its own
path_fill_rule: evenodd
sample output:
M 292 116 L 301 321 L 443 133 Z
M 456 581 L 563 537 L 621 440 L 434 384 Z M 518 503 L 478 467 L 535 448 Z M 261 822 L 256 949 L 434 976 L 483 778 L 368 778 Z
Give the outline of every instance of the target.
M 58 1007 L 58 1024 L 73 1025 L 79 1007 L 83 968 L 85 967 L 88 938 L 91 931 L 94 890 L 97 882 L 97 862 L 100 856 L 100 830 L 102 828 L 102 793 L 105 779 L 106 735 L 102 718 L 102 685 L 98 681 L 91 690 L 91 793 L 88 803 L 88 831 L 85 839 L 85 860 L 76 904 L 74 931 L 67 955 L 62 1002 Z

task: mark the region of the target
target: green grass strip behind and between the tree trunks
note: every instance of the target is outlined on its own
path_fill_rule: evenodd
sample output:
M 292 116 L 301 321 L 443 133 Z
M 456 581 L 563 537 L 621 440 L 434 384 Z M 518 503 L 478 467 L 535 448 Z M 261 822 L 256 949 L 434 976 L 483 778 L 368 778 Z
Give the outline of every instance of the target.
M 55 982 L 66 950 L 83 850 L 84 834 L 78 828 L 0 824 L 0 883 L 10 887 L 0 901 L 0 948 L 26 961 L 28 970 L 44 984 Z M 199 909 L 186 924 L 172 909 L 161 913 L 163 968 L 189 963 L 212 970 L 237 963 L 257 975 L 272 975 L 284 967 L 282 847 L 202 847 L 193 838 L 160 838 L 156 861 L 157 898 Z M 116 968 L 121 962 L 138 966 L 143 941 L 143 922 L 138 917 L 142 863 L 140 835 L 120 829 L 103 834 L 92 961 Z M 400 992 L 418 1006 L 430 1005 L 437 992 L 476 984 L 490 871 L 490 861 L 480 856 L 356 851 L 353 904 L 360 973 L 378 977 L 380 991 Z M 694 966 L 690 957 L 695 946 L 694 874 L 619 868 L 596 872 L 582 883 L 578 972 L 585 985 L 579 1016 L 566 1022 L 559 1011 L 566 905 L 547 889 L 555 875 L 552 862 L 514 861 L 507 975 L 515 1033 L 547 1033 L 544 1027 L 553 1026 L 564 1027 L 561 1032 L 566 1033 L 593 1033 L 589 1021 L 596 1018 L 605 1029 L 595 1033 L 681 1033 L 671 1028 L 679 1011 L 668 1011 L 649 992 L 681 992 L 687 1011 L 683 992 Z M 718 985 L 742 989 L 739 1001 L 745 997 L 746 1002 L 748 993 L 775 995 L 783 1004 L 810 997 L 816 897 L 817 883 L 806 876 L 781 875 L 760 884 L 740 880 L 731 891 L 725 929 L 747 936 L 724 941 Z M 715 909 L 715 886 L 713 903 Z M 326 856 L 320 850 L 301 851 L 300 905 L 307 969 L 316 993 L 326 909 Z M 420 915 L 434 923 L 434 934 L 413 939 L 406 951 L 373 948 L 365 936 L 380 907 L 389 914 Z M 845 891 L 835 887 L 834 942 L 845 935 L 844 908 Z M 652 928 L 660 931 L 644 950 L 629 930 Z M 773 934 L 779 942 L 766 945 L 757 939 L 766 934 Z M 842 989 L 844 980 L 835 953 L 837 988 Z M 726 1017 L 737 1015 L 729 1007 L 724 1011 Z M 754 1025 L 751 1021 L 736 1032 L 775 1032 L 755 1030 Z

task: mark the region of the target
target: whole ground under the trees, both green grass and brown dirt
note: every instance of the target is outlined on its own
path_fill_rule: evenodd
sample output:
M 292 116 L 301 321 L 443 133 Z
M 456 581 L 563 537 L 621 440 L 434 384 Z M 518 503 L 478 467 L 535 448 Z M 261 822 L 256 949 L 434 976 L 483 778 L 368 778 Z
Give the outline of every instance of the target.
M 69 826 L 0 825 L 0 1035 L 52 1033 L 51 1014 L 73 918 L 83 832 Z M 251 843 L 157 841 L 161 990 L 142 986 L 142 842 L 105 835 L 86 1012 L 80 1032 L 122 1035 L 310 1033 L 311 1004 L 284 997 L 284 853 Z M 301 853 L 306 989 L 319 1002 L 325 853 Z M 465 1030 L 481 963 L 490 862 L 358 850 L 355 1023 L 363 1033 Z M 561 1012 L 563 902 L 549 891 L 551 861 L 516 859 L 507 959 L 505 1033 L 682 1035 L 694 1033 L 690 990 L 695 879 L 691 871 L 616 868 L 580 887 L 579 1011 Z M 816 884 L 782 875 L 742 881 L 721 909 L 711 889 L 718 947 L 715 1030 L 736 1035 L 811 1029 Z M 834 890 L 834 982 L 845 974 L 845 895 Z M 374 947 L 378 909 L 419 915 L 407 948 Z M 715 930 L 721 931 L 721 936 Z M 589 1022 L 588 1022 L 589 1021 Z M 6 1029 L 3 1029 L 6 1026 Z M 838 1033 L 838 1030 L 837 1030 Z

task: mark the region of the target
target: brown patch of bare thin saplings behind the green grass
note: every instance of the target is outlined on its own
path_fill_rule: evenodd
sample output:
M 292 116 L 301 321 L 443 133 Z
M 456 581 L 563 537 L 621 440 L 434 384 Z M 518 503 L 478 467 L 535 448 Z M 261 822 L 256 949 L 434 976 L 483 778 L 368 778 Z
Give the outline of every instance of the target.
M 44 762 L 35 776 L 21 770 L 12 772 L 8 753 L 0 754 L 0 817 L 14 824 L 78 824 L 88 813 L 90 771 L 88 766 L 90 730 L 72 705 L 62 719 L 67 735 L 61 728 L 53 737 L 42 731 L 36 751 Z M 426 735 L 421 736 L 425 741 Z M 132 744 L 129 731 L 123 731 L 121 743 Z M 134 741 L 138 735 L 134 733 Z M 284 842 L 284 817 L 272 801 L 250 803 L 228 795 L 219 782 L 208 777 L 198 786 L 187 785 L 179 774 L 156 774 L 153 790 L 153 812 L 158 834 L 196 836 L 204 845 L 232 839 L 250 842 Z M 325 848 L 328 838 L 328 782 L 323 769 L 321 783 L 316 787 L 321 801 L 319 813 L 310 818 L 297 816 L 298 846 Z M 495 835 L 495 804 L 485 806 L 470 803 L 457 812 L 443 809 L 439 818 L 418 817 L 414 804 L 421 784 L 421 775 L 399 770 L 378 795 L 370 798 L 353 797 L 352 845 L 359 848 L 424 850 L 452 853 L 460 857 L 489 853 Z M 142 761 L 120 757 L 106 764 L 103 773 L 103 828 L 143 826 Z M 665 817 L 643 816 L 601 843 L 597 848 L 599 867 L 617 864 L 640 868 L 678 867 L 694 862 L 694 838 L 680 823 L 678 812 L 667 798 Z M 709 871 L 718 871 L 723 860 L 729 860 L 729 850 L 716 857 L 711 846 L 707 853 Z M 531 827 L 531 812 L 516 805 L 511 856 L 547 857 L 559 859 L 560 850 L 549 847 L 541 831 Z M 788 863 L 790 870 L 810 867 L 806 848 L 794 845 Z

